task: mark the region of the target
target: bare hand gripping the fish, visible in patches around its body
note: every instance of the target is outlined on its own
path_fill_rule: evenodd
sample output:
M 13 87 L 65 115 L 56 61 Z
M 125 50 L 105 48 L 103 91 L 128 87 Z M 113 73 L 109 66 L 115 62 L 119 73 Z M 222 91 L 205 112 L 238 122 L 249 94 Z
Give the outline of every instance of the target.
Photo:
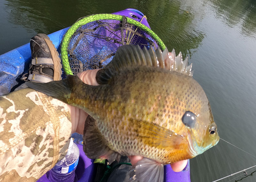
M 96 74 L 99 69 L 94 70 L 86 70 L 84 72 L 78 73 L 77 76 L 85 83 L 89 85 L 99 85 L 96 81 Z M 88 116 L 84 110 L 79 109 L 74 106 L 70 107 L 71 121 L 72 121 L 72 133 L 79 133 L 83 135 L 84 132 L 84 122 Z M 131 164 L 133 166 L 136 165 L 138 161 L 140 161 L 142 156 L 128 156 L 131 160 Z M 182 171 L 188 163 L 188 160 L 178 161 L 176 163 L 172 163 L 172 170 L 175 172 Z

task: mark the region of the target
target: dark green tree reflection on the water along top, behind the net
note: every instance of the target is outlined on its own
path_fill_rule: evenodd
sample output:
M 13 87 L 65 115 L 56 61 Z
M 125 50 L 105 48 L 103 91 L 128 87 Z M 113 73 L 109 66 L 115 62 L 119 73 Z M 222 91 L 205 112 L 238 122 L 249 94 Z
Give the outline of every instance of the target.
M 204 33 L 196 31 L 193 27 L 194 16 L 189 9 L 181 8 L 179 1 L 129 1 L 129 5 L 120 2 L 102 6 L 105 1 L 87 2 L 74 1 L 72 6 L 63 8 L 65 3 L 41 0 L 28 0 L 26 2 L 7 0 L 5 9 L 10 9 L 9 21 L 32 28 L 37 33 L 52 33 L 61 28 L 72 25 L 76 19 L 94 13 L 112 13 L 127 7 L 134 7 L 142 11 L 147 17 L 152 29 L 161 37 L 164 43 L 183 53 L 183 56 L 192 55 L 204 39 Z M 113 9 L 113 5 L 120 8 Z M 40 8 L 39 8 L 40 7 Z M 113 10 L 112 10 L 113 9 Z M 86 11 L 84 11 L 86 10 Z M 158 28 L 156 28 L 158 27 Z M 191 27 L 187 29 L 187 27 Z M 193 30 L 193 31 L 191 31 Z M 180 44 L 182 42 L 182 44 Z M 192 50 L 193 49 L 193 50 Z

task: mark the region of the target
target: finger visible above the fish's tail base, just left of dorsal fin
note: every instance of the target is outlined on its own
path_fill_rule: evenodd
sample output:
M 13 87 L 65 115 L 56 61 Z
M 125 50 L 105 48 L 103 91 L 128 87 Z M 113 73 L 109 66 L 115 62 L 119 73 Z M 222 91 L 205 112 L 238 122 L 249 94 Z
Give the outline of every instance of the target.
M 86 70 L 78 73 L 77 76 L 88 85 L 99 85 L 96 81 L 96 74 L 99 69 Z

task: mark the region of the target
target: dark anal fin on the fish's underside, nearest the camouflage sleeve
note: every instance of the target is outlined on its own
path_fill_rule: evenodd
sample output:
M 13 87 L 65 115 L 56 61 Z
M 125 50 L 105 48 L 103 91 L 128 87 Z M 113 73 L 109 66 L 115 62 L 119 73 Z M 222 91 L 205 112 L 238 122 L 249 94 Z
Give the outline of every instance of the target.
M 85 120 L 84 127 L 84 153 L 88 158 L 108 159 L 109 164 L 114 160 L 119 162 L 121 155 L 107 146 L 107 141 L 95 125 L 95 120 L 89 115 Z

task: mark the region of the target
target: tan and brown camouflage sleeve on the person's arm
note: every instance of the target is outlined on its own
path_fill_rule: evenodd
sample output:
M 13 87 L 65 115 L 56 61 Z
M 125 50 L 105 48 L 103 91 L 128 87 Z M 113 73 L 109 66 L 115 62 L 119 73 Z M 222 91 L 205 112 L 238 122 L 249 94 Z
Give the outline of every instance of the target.
M 0 181 L 36 181 L 68 149 L 65 103 L 32 89 L 0 97 Z

